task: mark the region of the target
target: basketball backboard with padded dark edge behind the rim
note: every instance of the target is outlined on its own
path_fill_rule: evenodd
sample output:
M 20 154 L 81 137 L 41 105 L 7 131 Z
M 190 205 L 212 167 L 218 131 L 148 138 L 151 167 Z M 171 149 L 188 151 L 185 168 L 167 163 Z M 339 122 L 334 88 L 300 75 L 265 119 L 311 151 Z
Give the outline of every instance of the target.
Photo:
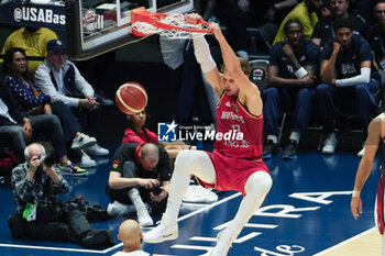
M 66 34 L 72 59 L 82 60 L 143 37 L 132 34 L 131 10 L 144 7 L 162 13 L 185 13 L 195 9 L 194 0 L 67 0 Z

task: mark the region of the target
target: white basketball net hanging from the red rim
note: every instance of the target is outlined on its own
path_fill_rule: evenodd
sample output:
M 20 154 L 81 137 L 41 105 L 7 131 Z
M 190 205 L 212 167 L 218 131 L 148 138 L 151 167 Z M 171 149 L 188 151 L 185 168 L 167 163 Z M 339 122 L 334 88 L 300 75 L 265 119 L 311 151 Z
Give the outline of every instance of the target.
M 168 24 L 168 25 L 174 25 L 174 26 L 180 26 L 180 27 L 186 27 L 186 29 L 195 29 L 195 30 L 207 30 L 208 26 L 205 24 L 189 24 L 185 22 L 184 15 L 183 14 L 168 14 L 165 18 L 154 18 L 158 22 Z M 148 24 L 147 22 L 142 22 L 142 21 L 135 21 L 132 24 L 132 29 L 136 30 L 138 32 L 141 32 L 143 34 L 160 34 L 163 36 L 167 36 L 168 38 L 174 38 L 174 40 L 187 40 L 187 38 L 193 38 L 197 36 L 204 36 L 205 34 L 209 32 L 189 32 L 189 31 L 183 31 L 178 29 L 172 29 L 172 30 L 165 30 L 161 27 L 156 27 L 152 24 Z

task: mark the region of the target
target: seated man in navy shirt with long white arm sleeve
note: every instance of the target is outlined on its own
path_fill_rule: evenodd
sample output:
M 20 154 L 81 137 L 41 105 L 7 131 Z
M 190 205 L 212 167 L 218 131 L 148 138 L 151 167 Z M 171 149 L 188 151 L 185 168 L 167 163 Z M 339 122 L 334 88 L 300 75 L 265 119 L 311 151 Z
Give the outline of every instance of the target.
M 336 41 L 330 41 L 321 52 L 322 84 L 316 89 L 315 102 L 327 138 L 322 153 L 333 154 L 337 145 L 334 121 L 338 109 L 341 112 L 356 112 L 362 129 L 375 115 L 380 90 L 380 75 L 372 66 L 372 53 L 369 43 L 353 34 L 348 19 L 334 22 Z M 360 151 L 362 156 L 364 148 Z

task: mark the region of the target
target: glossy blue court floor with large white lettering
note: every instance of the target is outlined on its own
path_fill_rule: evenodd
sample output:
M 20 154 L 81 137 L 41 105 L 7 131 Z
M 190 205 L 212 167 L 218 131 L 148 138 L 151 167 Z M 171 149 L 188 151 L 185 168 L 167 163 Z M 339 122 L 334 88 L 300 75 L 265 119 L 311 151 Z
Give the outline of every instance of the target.
M 67 178 L 72 186 L 63 200 L 82 194 L 91 203 L 107 207 L 105 192 L 110 163 L 98 158 L 98 167 L 86 178 Z M 273 188 L 262 208 L 243 229 L 230 249 L 230 256 L 316 255 L 374 226 L 373 205 L 380 178 L 377 162 L 362 191 L 364 213 L 354 220 L 350 212 L 360 159 L 353 153 L 323 156 L 300 152 L 297 160 L 283 160 L 280 155 L 266 162 Z M 0 186 L 0 254 L 8 255 L 112 255 L 122 248 L 118 243 L 105 251 L 92 251 L 76 244 L 14 241 L 7 218 L 14 210 L 10 180 Z M 201 255 L 215 245 L 218 232 L 234 216 L 242 196 L 220 192 L 212 204 L 186 204 L 179 214 L 179 237 L 162 244 L 144 244 L 144 251 L 156 255 Z M 155 216 L 158 220 L 160 216 Z M 118 232 L 122 218 L 94 223 L 96 227 Z M 146 230 L 144 230 L 145 232 Z M 119 242 L 119 241 L 117 241 Z

